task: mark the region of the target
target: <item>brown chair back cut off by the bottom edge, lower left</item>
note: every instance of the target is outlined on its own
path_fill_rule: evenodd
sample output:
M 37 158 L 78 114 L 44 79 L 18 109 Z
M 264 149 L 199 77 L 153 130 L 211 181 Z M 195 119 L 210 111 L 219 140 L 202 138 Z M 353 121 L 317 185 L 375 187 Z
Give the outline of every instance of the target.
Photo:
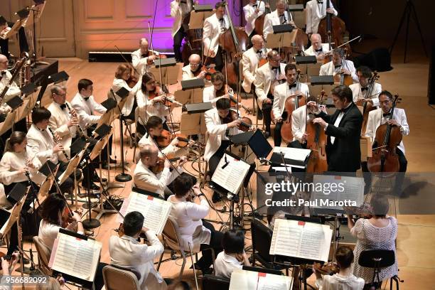
M 103 268 L 104 289 L 106 290 L 140 290 L 139 273 L 117 265 L 107 265 Z

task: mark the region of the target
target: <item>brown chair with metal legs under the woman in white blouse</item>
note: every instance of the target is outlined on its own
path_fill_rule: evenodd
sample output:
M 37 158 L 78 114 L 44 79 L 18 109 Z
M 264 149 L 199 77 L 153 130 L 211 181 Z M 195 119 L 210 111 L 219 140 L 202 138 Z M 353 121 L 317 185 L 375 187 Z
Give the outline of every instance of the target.
M 171 259 L 176 259 L 175 254 L 181 254 L 181 257 L 183 258 L 183 264 L 181 265 L 180 274 L 178 276 L 179 279 L 181 279 L 181 276 L 183 276 L 184 267 L 186 266 L 187 258 L 191 256 L 190 252 L 185 252 L 181 248 L 181 235 L 180 231 L 178 230 L 178 225 L 176 220 L 174 220 L 171 216 L 168 217 L 168 220 L 166 220 L 165 227 L 163 228 L 163 232 L 161 233 L 161 236 L 163 237 L 163 247 L 165 248 L 163 253 L 161 253 L 159 264 L 157 264 L 157 271 L 160 269 L 160 265 L 163 259 L 163 254 L 165 252 L 171 253 Z M 215 251 L 213 248 L 209 248 L 212 251 L 212 257 L 213 257 L 213 272 L 215 271 Z M 195 255 L 195 263 L 198 262 L 198 252 L 193 252 L 192 254 Z

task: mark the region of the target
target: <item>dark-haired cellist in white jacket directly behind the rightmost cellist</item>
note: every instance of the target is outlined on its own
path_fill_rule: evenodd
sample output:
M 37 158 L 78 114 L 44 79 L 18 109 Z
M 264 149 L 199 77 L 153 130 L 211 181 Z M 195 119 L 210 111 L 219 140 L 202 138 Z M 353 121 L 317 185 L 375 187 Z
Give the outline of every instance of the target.
M 372 77 L 372 70 L 370 68 L 362 65 L 356 70 L 358 76 L 358 82 L 356 84 L 350 85 L 350 90 L 352 90 L 353 102 L 358 102 L 359 100 L 364 100 L 364 102 L 370 102 L 373 106 L 379 107 L 379 94 L 382 92 L 382 85 L 377 82 L 373 83 L 372 90 L 369 90 L 369 79 Z M 366 98 L 367 96 L 367 98 Z

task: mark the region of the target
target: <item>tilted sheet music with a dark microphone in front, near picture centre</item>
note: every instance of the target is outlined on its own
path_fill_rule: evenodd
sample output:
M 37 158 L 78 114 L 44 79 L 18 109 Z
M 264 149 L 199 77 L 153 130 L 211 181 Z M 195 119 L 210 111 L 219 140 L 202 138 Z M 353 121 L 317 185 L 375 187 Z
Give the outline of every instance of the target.
M 225 156 L 228 162 L 225 168 Z M 222 159 L 220 159 L 218 168 L 216 168 L 215 173 L 213 173 L 212 181 L 230 193 L 237 194 L 240 186 L 242 186 L 243 181 L 249 171 L 249 164 L 242 160 L 237 160 L 234 157 L 224 154 Z

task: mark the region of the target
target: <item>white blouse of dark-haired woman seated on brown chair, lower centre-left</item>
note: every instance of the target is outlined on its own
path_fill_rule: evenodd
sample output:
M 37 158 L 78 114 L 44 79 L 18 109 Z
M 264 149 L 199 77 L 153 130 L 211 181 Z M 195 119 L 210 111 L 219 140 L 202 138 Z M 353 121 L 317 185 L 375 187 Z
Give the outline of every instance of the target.
M 190 201 L 178 201 L 175 195 L 171 195 L 168 201 L 172 203 L 170 215 L 177 221 L 183 249 L 189 251 L 190 244 L 193 252 L 199 252 L 201 244 L 210 244 L 211 232 L 201 220 L 210 210 L 207 200 L 202 199 L 198 205 Z

